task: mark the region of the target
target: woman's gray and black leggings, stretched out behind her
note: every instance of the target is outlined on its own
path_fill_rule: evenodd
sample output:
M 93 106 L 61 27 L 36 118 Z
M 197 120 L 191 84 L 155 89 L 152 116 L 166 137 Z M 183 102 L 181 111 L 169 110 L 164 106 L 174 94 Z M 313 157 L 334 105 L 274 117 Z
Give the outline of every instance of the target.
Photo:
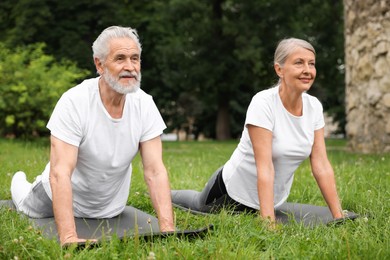
M 227 194 L 222 178 L 222 170 L 223 166 L 215 171 L 201 192 L 194 190 L 172 190 L 172 203 L 181 208 L 203 213 L 217 213 L 222 208 L 239 212 L 256 211 L 256 209 L 235 201 Z

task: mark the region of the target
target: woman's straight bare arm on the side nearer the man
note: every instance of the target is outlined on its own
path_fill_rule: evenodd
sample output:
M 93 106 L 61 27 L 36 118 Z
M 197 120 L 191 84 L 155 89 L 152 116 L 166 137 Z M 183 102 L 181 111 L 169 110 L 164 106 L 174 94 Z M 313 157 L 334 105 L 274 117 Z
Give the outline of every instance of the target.
M 253 125 L 247 125 L 247 127 L 256 161 L 260 215 L 263 219 L 274 222 L 275 172 L 272 163 L 272 132 Z

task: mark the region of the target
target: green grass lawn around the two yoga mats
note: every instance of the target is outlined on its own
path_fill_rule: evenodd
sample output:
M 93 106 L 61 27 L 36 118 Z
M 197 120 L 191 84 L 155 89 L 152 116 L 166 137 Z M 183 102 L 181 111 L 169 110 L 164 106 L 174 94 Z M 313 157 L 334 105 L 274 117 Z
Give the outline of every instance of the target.
M 172 189 L 201 190 L 210 175 L 231 155 L 237 142 L 167 142 L 164 161 Z M 203 239 L 169 237 L 147 242 L 113 239 L 93 249 L 61 249 L 43 238 L 15 211 L 0 209 L 0 259 L 389 259 L 390 155 L 349 153 L 345 141 L 327 141 L 339 195 L 345 209 L 362 217 L 333 227 L 285 225 L 269 231 L 258 217 L 197 216 L 174 209 L 176 226 L 198 228 L 209 223 L 215 230 Z M 10 199 L 12 174 L 24 170 L 30 181 L 49 156 L 48 142 L 0 139 L 0 199 Z M 308 162 L 297 170 L 289 201 L 325 205 L 310 174 Z M 143 181 L 139 157 L 129 204 L 154 214 Z

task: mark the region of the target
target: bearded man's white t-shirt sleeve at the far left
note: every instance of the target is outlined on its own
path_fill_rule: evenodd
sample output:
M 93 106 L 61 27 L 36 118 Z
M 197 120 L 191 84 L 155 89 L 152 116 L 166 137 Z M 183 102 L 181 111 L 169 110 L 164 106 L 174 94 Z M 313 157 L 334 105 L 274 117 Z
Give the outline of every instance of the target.
M 65 93 L 57 102 L 47 123 L 51 135 L 58 139 L 79 146 L 82 139 L 82 128 L 75 102 Z

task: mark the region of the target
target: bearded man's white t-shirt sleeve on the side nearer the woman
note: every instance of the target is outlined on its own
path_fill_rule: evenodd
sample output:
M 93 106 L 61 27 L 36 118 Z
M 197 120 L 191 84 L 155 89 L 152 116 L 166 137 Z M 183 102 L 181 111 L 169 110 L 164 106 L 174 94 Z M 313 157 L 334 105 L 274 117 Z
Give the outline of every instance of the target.
M 149 96 L 147 105 L 145 106 L 142 121 L 143 132 L 140 142 L 145 142 L 160 136 L 166 128 L 165 122 L 151 96 Z

